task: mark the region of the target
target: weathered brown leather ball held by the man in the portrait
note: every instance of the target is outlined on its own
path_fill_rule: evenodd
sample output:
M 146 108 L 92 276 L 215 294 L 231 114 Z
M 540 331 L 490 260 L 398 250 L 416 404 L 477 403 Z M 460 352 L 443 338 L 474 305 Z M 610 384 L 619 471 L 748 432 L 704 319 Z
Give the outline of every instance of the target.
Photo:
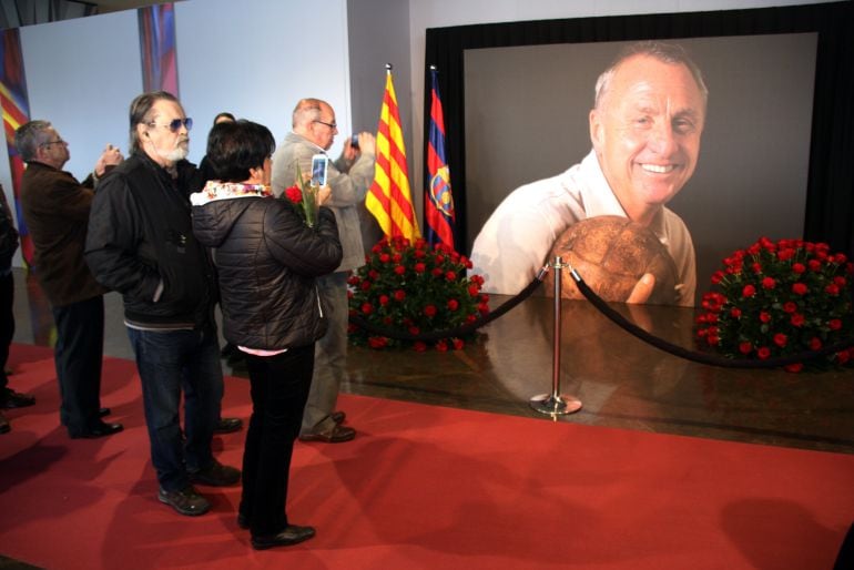
M 647 301 L 657 305 L 677 302 L 677 266 L 667 248 L 649 228 L 621 216 L 597 216 L 572 224 L 556 241 L 549 262 L 561 256 L 584 283 L 604 301 L 624 302 L 644 273 L 655 276 Z M 545 281 L 553 296 L 555 271 Z M 561 297 L 584 298 L 575 279 L 561 274 Z

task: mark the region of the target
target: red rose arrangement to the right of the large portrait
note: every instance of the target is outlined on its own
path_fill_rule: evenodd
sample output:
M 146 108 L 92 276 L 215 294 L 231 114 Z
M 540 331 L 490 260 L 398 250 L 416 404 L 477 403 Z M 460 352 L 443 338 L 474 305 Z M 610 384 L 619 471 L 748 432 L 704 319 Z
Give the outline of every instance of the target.
M 698 340 L 728 357 L 767 359 L 854 339 L 853 274 L 854 264 L 826 244 L 762 237 L 712 275 L 720 291 L 703 295 Z M 854 348 L 828 360 L 852 364 Z

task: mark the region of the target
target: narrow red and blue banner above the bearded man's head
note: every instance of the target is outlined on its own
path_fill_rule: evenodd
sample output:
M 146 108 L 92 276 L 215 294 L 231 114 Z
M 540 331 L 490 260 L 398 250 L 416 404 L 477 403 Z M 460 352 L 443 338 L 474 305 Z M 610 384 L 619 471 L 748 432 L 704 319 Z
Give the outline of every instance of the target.
M 140 8 L 140 54 L 142 89 L 177 93 L 177 52 L 173 4 Z

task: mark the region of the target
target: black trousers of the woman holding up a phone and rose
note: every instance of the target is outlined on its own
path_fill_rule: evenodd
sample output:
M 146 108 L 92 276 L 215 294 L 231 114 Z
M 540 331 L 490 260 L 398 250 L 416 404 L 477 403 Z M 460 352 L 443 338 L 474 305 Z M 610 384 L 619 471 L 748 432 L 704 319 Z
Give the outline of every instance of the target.
M 294 440 L 303 423 L 314 373 L 314 344 L 275 356 L 246 355 L 252 418 L 243 454 L 241 515 L 253 536 L 288 525 L 285 503 Z

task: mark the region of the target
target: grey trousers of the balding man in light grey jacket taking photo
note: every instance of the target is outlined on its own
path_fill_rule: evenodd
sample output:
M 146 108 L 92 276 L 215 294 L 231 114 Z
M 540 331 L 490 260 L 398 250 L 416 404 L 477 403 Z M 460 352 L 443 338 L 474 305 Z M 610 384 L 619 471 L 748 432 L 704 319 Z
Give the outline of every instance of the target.
M 314 378 L 301 429 L 303 436 L 335 428 L 331 415 L 335 411 L 347 367 L 347 273 L 338 272 L 321 277 L 317 286 L 326 301 L 329 326 L 316 343 Z

